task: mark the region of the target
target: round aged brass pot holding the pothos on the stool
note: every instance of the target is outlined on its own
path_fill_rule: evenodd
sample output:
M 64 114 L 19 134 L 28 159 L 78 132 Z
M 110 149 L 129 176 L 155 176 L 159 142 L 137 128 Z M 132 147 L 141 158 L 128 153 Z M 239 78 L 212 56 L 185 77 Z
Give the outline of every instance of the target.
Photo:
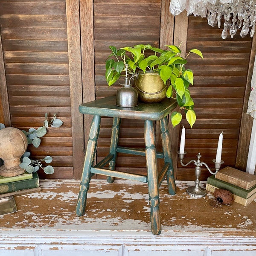
M 139 72 L 135 87 L 141 102 L 157 103 L 166 98 L 167 87 L 157 72 Z

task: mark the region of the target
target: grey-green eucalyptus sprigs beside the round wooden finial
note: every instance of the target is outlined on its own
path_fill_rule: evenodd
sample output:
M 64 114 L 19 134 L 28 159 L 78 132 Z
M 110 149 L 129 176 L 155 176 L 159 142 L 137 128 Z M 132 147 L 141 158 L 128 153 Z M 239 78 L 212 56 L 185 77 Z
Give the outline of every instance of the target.
M 29 131 L 24 131 L 21 130 L 27 138 L 28 144 L 32 144 L 35 148 L 38 148 L 39 145 L 41 144 L 41 137 L 43 137 L 47 133 L 47 128 L 49 125 L 51 127 L 60 127 L 63 122 L 61 119 L 58 119 L 56 117 L 56 113 L 54 113 L 52 119 L 48 121 L 48 114 L 45 113 L 45 120 L 43 126 L 39 127 L 38 129 L 35 128 L 30 128 Z M 5 125 L 0 123 L 0 129 L 5 128 Z M 45 163 L 51 163 L 52 162 L 52 157 L 47 156 L 44 157 L 44 159 L 37 159 L 37 160 L 32 160 L 29 158 L 30 152 L 26 151 L 20 158 L 20 168 L 23 168 L 26 170 L 28 173 L 32 172 L 37 172 L 40 168 L 44 170 L 46 174 L 52 174 L 54 173 L 54 168 L 50 165 L 43 166 L 42 161 Z

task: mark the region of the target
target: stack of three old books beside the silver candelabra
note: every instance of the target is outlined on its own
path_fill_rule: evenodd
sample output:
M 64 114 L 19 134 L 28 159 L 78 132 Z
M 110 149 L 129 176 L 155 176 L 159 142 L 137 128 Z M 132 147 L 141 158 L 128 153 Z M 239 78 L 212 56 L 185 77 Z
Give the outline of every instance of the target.
M 216 189 L 228 190 L 236 203 L 247 206 L 256 199 L 256 175 L 225 167 L 207 178 L 206 190 L 213 193 Z

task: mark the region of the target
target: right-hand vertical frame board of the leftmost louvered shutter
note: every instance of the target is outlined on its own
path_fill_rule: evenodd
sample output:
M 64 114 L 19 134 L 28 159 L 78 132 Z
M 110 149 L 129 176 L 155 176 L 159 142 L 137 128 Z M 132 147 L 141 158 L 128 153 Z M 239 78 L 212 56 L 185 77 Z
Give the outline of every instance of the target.
M 78 112 L 83 102 L 81 77 L 81 46 L 79 1 L 66 0 L 67 42 L 69 55 L 70 105 L 72 116 L 74 177 L 81 177 L 83 163 L 83 117 Z

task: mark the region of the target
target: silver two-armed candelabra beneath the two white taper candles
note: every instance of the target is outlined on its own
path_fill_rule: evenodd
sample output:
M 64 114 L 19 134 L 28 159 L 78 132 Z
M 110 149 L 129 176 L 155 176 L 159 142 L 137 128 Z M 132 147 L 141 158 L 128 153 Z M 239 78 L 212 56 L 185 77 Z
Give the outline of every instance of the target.
M 186 154 L 186 151 L 184 151 L 184 153 L 180 153 L 180 151 L 177 151 L 177 153 L 179 154 L 179 158 L 180 158 L 180 164 L 182 166 L 188 166 L 190 163 L 194 163 L 195 164 L 195 186 L 190 186 L 186 189 L 186 192 L 196 198 L 201 198 L 204 197 L 207 192 L 204 188 L 200 187 L 200 180 L 199 177 L 201 175 L 201 166 L 206 166 L 206 168 L 208 169 L 208 171 L 214 175 L 218 172 L 218 170 L 221 168 L 221 164 L 224 163 L 223 160 L 221 160 L 221 163 L 217 163 L 215 159 L 213 159 L 212 161 L 215 163 L 215 172 L 212 172 L 209 169 L 209 166 L 207 166 L 206 163 L 201 162 L 200 158 L 202 157 L 202 155 L 200 153 L 198 153 L 196 156 L 198 158 L 198 160 L 191 160 L 189 161 L 189 163 L 184 164 L 183 163 L 183 159 L 184 159 L 184 155 Z

